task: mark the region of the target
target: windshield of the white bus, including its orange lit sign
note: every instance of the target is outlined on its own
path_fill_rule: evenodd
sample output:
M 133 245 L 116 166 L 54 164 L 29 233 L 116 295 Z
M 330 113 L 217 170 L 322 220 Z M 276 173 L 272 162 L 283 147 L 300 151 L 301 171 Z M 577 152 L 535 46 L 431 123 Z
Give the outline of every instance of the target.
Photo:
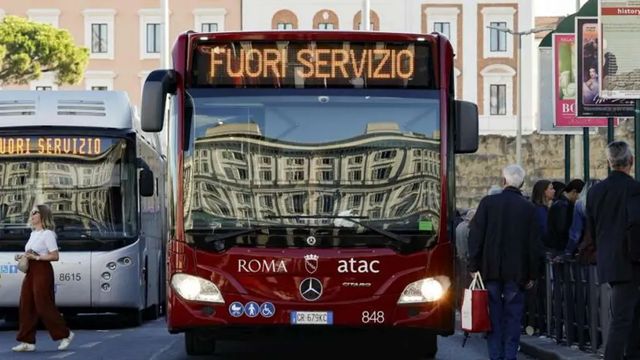
M 136 168 L 127 153 L 122 138 L 0 136 L 0 242 L 28 237 L 37 204 L 51 208 L 60 241 L 135 235 Z

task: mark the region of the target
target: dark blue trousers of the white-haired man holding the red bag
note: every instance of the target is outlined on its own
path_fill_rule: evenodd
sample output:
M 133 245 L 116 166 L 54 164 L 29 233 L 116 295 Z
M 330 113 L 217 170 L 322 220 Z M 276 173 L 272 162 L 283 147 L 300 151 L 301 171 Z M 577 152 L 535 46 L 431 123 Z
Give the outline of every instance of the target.
M 520 343 L 520 325 L 524 311 L 524 293 L 515 282 L 490 281 L 489 316 L 491 332 L 487 335 L 491 360 L 515 360 Z

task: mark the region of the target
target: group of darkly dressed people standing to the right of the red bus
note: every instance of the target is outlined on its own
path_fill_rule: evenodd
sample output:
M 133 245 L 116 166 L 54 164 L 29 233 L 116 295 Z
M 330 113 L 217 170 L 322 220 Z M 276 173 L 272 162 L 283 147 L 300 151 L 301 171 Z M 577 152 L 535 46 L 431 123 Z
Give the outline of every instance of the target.
M 517 358 L 525 306 L 544 307 L 545 273 L 559 277 L 567 261 L 596 266 L 600 284 L 610 289 L 605 360 L 640 358 L 640 238 L 629 230 L 637 223 L 640 234 L 640 214 L 635 214 L 640 183 L 630 176 L 633 160 L 627 143 L 612 142 L 605 180 L 541 179 L 530 197 L 522 190 L 524 169 L 509 165 L 501 191 L 492 188 L 477 210 L 464 216 L 456 228 L 456 248 L 459 266 L 468 273 L 461 271 L 459 281 L 468 285 L 479 272 L 487 285 L 490 359 Z M 548 272 L 545 261 L 551 264 Z M 566 295 L 562 286 L 552 291 L 555 299 Z M 545 328 L 544 321 L 533 321 L 534 332 Z

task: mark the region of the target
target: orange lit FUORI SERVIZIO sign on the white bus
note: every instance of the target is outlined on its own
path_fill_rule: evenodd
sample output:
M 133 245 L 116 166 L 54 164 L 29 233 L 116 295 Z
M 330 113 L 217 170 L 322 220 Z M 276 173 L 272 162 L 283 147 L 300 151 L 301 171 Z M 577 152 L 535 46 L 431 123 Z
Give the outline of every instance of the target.
M 103 141 L 106 140 L 106 141 Z M 7 155 L 99 155 L 103 142 L 111 139 L 87 136 L 0 137 L 0 156 Z

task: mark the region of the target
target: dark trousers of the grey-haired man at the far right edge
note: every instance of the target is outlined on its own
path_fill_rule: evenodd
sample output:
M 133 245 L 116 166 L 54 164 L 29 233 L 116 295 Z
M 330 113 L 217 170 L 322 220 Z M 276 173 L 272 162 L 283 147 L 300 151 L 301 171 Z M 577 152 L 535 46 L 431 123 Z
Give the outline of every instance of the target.
M 640 290 L 638 281 L 611 283 L 611 322 L 605 360 L 640 359 Z

